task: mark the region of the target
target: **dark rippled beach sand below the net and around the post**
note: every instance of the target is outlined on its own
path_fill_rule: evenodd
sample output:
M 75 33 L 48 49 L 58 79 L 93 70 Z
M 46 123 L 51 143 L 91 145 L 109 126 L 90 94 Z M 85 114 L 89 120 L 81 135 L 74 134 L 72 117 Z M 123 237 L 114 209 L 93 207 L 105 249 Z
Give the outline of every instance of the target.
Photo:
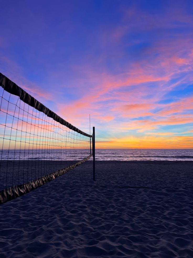
M 0 257 L 193 257 L 193 162 L 92 161 L 0 206 Z

